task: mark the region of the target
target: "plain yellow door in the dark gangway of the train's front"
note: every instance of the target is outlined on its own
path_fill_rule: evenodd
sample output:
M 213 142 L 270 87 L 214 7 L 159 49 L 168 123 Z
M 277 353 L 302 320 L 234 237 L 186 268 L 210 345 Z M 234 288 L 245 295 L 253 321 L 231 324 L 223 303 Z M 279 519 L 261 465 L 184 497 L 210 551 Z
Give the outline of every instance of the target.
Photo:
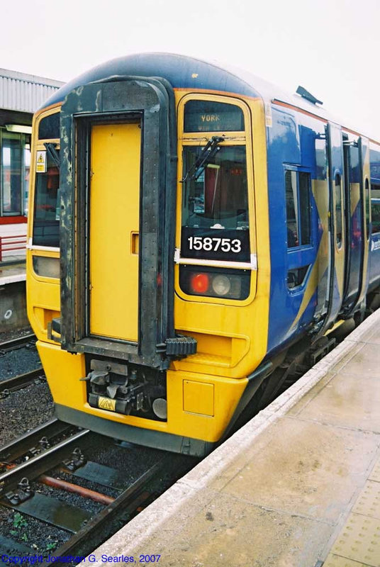
M 91 128 L 91 335 L 138 342 L 140 120 Z

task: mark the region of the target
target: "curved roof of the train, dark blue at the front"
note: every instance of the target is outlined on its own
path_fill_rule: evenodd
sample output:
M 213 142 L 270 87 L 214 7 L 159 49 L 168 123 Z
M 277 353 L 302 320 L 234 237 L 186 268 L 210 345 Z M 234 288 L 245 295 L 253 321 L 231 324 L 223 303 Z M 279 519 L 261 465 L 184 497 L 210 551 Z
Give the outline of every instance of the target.
M 47 99 L 39 110 L 62 102 L 65 96 L 77 86 L 107 78 L 128 76 L 163 77 L 172 84 L 174 89 L 222 91 L 228 94 L 260 98 L 264 102 L 282 102 L 352 129 L 344 120 L 330 115 L 324 108 L 297 94 L 289 94 L 250 72 L 231 65 L 206 62 L 187 55 L 159 52 L 126 55 L 101 63 L 62 86 Z

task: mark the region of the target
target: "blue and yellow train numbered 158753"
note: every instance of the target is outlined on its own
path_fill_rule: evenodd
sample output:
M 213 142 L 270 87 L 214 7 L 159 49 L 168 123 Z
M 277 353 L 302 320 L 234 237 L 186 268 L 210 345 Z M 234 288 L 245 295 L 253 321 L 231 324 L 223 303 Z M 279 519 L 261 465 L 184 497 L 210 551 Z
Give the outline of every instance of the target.
M 380 144 L 303 87 L 105 62 L 35 113 L 30 181 L 28 318 L 73 425 L 203 456 L 379 306 Z

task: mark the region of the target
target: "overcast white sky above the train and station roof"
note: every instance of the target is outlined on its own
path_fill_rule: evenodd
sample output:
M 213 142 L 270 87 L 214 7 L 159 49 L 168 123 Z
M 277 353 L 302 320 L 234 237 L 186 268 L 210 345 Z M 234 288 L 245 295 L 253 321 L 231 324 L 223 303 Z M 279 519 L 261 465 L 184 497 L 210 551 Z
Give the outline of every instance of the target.
M 0 67 L 68 81 L 166 51 L 227 62 L 380 138 L 380 0 L 2 0 Z

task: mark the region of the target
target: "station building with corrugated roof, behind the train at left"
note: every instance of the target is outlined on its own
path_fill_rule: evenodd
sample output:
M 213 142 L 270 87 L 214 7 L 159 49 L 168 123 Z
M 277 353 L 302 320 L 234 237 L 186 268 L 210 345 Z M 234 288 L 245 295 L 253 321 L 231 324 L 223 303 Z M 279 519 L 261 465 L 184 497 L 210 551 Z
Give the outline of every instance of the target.
M 0 69 L 0 261 L 25 256 L 33 113 L 62 84 Z

